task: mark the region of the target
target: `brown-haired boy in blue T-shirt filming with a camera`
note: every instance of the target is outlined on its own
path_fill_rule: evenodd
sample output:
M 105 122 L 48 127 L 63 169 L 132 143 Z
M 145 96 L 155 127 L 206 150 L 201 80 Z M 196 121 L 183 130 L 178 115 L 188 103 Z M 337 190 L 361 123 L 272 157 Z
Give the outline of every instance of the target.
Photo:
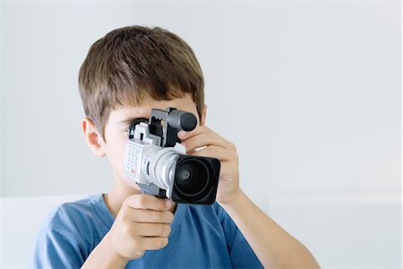
M 87 116 L 83 134 L 92 152 L 107 156 L 115 184 L 108 194 L 62 204 L 50 214 L 39 231 L 36 267 L 318 267 L 240 189 L 236 146 L 205 126 L 201 67 L 184 40 L 160 28 L 113 30 L 91 46 L 79 88 Z M 143 195 L 124 176 L 128 126 L 150 117 L 151 108 L 167 107 L 197 117 L 193 131 L 178 133 L 187 154 L 221 162 L 217 203 Z

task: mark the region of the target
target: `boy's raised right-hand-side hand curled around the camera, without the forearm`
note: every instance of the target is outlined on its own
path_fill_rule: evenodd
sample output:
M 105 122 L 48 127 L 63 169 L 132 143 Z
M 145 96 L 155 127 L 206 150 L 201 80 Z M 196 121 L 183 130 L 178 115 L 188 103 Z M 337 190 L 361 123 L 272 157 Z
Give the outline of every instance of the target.
M 236 145 L 221 137 L 206 126 L 197 126 L 191 132 L 180 131 L 179 139 L 186 147 L 186 153 L 193 156 L 217 158 L 221 162 L 217 202 L 227 204 L 239 192 L 238 154 Z M 206 146 L 196 152 L 196 148 Z

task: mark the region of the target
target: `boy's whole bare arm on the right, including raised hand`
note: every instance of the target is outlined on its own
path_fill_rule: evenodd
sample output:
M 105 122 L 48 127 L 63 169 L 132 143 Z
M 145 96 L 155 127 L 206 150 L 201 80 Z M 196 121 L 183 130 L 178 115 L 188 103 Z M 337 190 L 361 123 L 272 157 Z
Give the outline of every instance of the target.
M 309 250 L 283 230 L 239 187 L 238 155 L 228 142 L 206 126 L 178 133 L 190 155 L 217 158 L 221 162 L 217 202 L 226 210 L 266 268 L 320 268 Z M 196 148 L 206 146 L 200 151 Z

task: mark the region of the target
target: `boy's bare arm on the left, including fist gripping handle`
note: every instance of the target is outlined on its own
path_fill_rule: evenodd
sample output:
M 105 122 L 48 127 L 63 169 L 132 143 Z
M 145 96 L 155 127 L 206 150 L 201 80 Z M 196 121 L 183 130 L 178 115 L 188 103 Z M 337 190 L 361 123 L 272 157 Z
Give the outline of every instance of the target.
M 167 246 L 171 232 L 172 201 L 151 195 L 130 195 L 122 204 L 112 228 L 81 268 L 124 268 L 148 249 Z

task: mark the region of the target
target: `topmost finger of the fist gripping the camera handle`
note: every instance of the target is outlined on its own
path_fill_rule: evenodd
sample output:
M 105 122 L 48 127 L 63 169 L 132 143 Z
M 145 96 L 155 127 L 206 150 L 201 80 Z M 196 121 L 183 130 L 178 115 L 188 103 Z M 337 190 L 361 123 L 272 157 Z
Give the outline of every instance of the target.
M 124 205 L 136 209 L 168 210 L 173 202 L 153 195 L 130 195 L 124 200 Z

